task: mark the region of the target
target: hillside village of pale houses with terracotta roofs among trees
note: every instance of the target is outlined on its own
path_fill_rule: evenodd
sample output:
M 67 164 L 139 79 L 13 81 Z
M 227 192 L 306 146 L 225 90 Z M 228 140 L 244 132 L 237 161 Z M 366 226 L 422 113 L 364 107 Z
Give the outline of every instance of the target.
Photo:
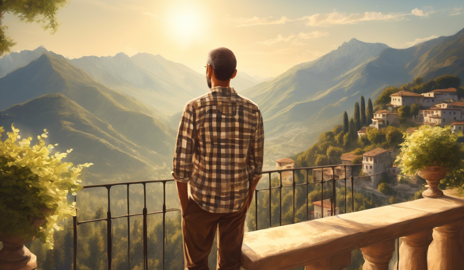
M 337 130 L 337 126 L 335 126 L 331 131 L 332 134 L 329 134 L 329 132 L 321 134 L 319 142 L 322 141 L 322 144 L 317 145 L 319 149 L 321 148 L 321 145 L 328 143 L 324 143 L 323 139 L 321 140 L 324 135 L 328 134 L 329 136 L 333 136 L 335 144 L 339 143 L 343 146 L 338 150 L 340 158 L 335 159 L 337 162 L 328 162 L 330 159 L 329 149 L 332 146 L 327 147 L 327 155 L 325 156 L 327 162 L 325 163 L 318 163 L 317 159 L 323 155 L 317 154 L 317 150 L 313 151 L 315 153 L 314 156 L 316 156 L 316 158 L 314 158 L 316 166 L 330 164 L 360 164 L 361 166 L 362 164 L 362 170 L 360 170 L 358 175 L 356 175 L 356 172 L 352 173 L 351 166 L 346 167 L 346 175 L 344 166 L 337 166 L 334 169 L 314 169 L 312 170 L 312 178 L 314 182 L 319 182 L 322 179 L 325 181 L 333 178 L 343 179 L 346 177 L 349 179 L 353 175 L 356 178 L 354 182 L 354 189 L 384 196 L 385 198 L 388 198 L 393 193 L 402 194 L 405 198 L 412 197 L 420 188 L 422 188 L 424 181 L 419 176 L 403 175 L 401 170 L 394 164 L 396 154 L 399 151 L 398 144 L 402 141 L 403 132 L 414 132 L 420 125 L 441 126 L 449 128 L 452 133 L 459 131 L 462 132 L 464 130 L 464 102 L 458 101 L 458 90 L 454 87 L 435 89 L 422 94 L 408 90 L 400 90 L 390 94 L 389 98 L 389 102 L 385 103 L 383 107 L 379 106 L 378 100 L 376 100 L 376 108 L 380 107 L 380 109 L 371 113 L 371 117 L 369 119 L 364 120 L 364 127 L 361 127 L 356 133 L 354 133 L 355 138 L 352 138 L 351 140 L 355 142 L 352 142 L 351 146 L 346 139 L 342 140 L 341 138 L 349 138 L 352 136 L 349 135 L 349 133 L 353 133 L 352 129 L 358 125 L 355 124 L 357 121 L 356 117 L 359 117 L 359 115 L 356 116 L 356 114 L 360 113 L 358 102 L 356 102 L 355 105 L 354 120 L 351 119 L 351 121 L 348 122 L 347 116 L 344 115 L 344 121 L 348 122 L 348 125 L 344 124 L 343 130 Z M 372 110 L 372 103 L 370 99 L 369 106 L 371 106 L 370 110 Z M 362 113 L 365 113 L 367 117 L 369 114 L 369 108 L 366 111 L 364 107 L 364 98 L 361 97 L 361 115 Z M 400 129 L 400 126 L 402 126 L 403 129 Z M 340 126 L 338 127 L 339 129 L 342 129 Z M 336 134 L 337 132 L 340 133 Z M 394 136 L 396 136 L 395 141 L 390 143 L 380 143 L 380 139 L 377 139 L 377 142 L 380 144 L 374 144 L 372 140 L 374 138 L 375 141 L 375 136 L 372 135 L 372 133 L 375 132 L 377 132 L 377 135 L 375 136 L 379 136 L 378 134 L 381 132 L 385 132 L 384 134 L 386 137 L 387 133 L 394 134 Z M 398 132 L 400 132 L 400 134 L 398 134 Z M 369 133 L 371 133 L 371 136 L 368 138 Z M 394 136 L 392 135 L 390 137 Z M 388 141 L 388 138 L 386 140 Z M 362 142 L 364 142 L 364 144 Z M 371 145 L 369 145 L 369 143 Z M 365 148 L 356 148 L 354 151 L 348 152 L 340 151 L 351 150 L 354 144 L 358 144 L 358 146 L 359 144 L 363 144 L 361 146 L 365 146 Z M 277 160 L 277 169 L 289 169 L 295 168 L 295 166 L 296 168 L 301 167 L 301 160 L 303 159 L 302 156 L 306 153 L 306 157 L 308 157 L 309 152 L 315 145 L 306 152 L 297 155 L 297 161 L 290 158 Z M 380 147 L 374 148 L 373 146 Z M 298 162 L 298 160 L 300 162 Z M 308 163 L 308 165 L 310 165 L 310 163 Z M 291 172 L 289 171 L 282 174 L 282 181 L 284 183 L 291 183 L 292 176 L 290 173 Z M 347 181 L 347 187 L 350 186 L 351 182 Z

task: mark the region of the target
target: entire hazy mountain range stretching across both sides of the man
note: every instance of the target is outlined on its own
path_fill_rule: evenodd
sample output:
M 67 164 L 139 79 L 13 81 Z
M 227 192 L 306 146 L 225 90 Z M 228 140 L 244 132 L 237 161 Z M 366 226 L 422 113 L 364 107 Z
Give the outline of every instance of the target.
M 353 38 L 264 82 L 238 73 L 231 86 L 261 109 L 270 169 L 340 124 L 361 95 L 444 74 L 464 77 L 464 29 L 406 49 Z M 39 47 L 0 58 L 0 126 L 47 128 L 58 150 L 74 149 L 71 161 L 95 163 L 89 181 L 164 177 L 182 107 L 205 88 L 204 75 L 160 55 L 67 59 Z

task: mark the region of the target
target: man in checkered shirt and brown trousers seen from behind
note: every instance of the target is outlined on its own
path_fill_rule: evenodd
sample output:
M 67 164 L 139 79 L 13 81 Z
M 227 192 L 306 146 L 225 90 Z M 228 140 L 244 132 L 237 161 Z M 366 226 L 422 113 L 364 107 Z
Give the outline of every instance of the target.
M 209 270 L 216 229 L 217 269 L 240 269 L 246 212 L 261 178 L 263 118 L 258 105 L 230 87 L 236 66 L 231 50 L 211 50 L 206 62 L 210 91 L 187 102 L 180 119 L 173 176 L 189 270 Z

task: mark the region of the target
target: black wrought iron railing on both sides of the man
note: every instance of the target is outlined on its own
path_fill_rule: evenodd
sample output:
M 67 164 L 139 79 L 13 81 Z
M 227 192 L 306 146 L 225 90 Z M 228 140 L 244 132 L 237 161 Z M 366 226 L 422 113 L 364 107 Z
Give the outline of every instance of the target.
M 334 214 L 334 211 L 336 209 L 336 188 L 335 184 L 338 180 L 343 180 L 344 181 L 344 186 L 345 186 L 345 213 L 347 213 L 347 180 L 351 182 L 351 198 L 352 198 L 352 205 L 351 209 L 354 212 L 354 179 L 356 178 L 361 178 L 361 177 L 367 177 L 367 176 L 353 176 L 353 167 L 355 166 L 361 166 L 362 164 L 342 164 L 342 165 L 328 165 L 328 166 L 318 166 L 318 167 L 306 167 L 306 168 L 292 168 L 292 169 L 283 169 L 283 170 L 267 170 L 263 171 L 263 175 L 268 174 L 269 175 L 269 187 L 267 188 L 257 188 L 255 189 L 255 229 L 258 230 L 258 192 L 259 191 L 269 191 L 269 226 L 272 226 L 272 207 L 271 207 L 271 191 L 273 189 L 278 188 L 279 189 L 279 213 L 280 213 L 280 218 L 279 218 L 279 226 L 282 225 L 282 188 L 287 188 L 287 187 L 292 187 L 293 188 L 293 202 L 292 202 L 292 223 L 295 223 L 295 189 L 297 186 L 303 186 L 306 185 L 306 220 L 309 220 L 309 201 L 308 201 L 308 191 L 309 191 L 309 185 L 316 185 L 316 184 L 321 184 L 321 215 L 324 217 L 324 211 L 323 211 L 323 206 L 324 206 L 324 183 L 327 182 L 332 182 L 332 198 L 333 202 L 330 203 L 330 213 L 331 215 Z M 343 177 L 338 177 L 335 179 L 335 168 L 344 168 L 344 173 Z M 350 168 L 351 170 L 351 177 L 347 177 L 347 168 Z M 324 180 L 324 169 L 332 169 L 332 178 Z M 321 181 L 313 181 L 309 182 L 309 171 L 315 170 L 315 169 L 321 169 Z M 282 173 L 286 171 L 291 171 L 292 174 L 292 184 L 290 185 L 283 185 L 282 184 Z M 306 172 L 306 182 L 304 183 L 296 183 L 295 179 L 295 171 L 305 171 Z M 271 174 L 272 173 L 278 173 L 279 174 L 279 185 L 277 186 L 272 186 L 271 185 Z M 379 173 L 380 174 L 380 173 Z M 373 174 L 373 175 L 368 175 L 368 176 L 375 176 L 379 174 Z M 179 208 L 171 208 L 171 209 L 166 209 L 166 183 L 167 182 L 173 182 L 174 179 L 166 179 L 166 180 L 151 180 L 151 181 L 139 181 L 139 182 L 121 182 L 121 183 L 112 183 L 112 184 L 100 184 L 100 185 L 88 185 L 84 186 L 84 189 L 88 188 L 106 188 L 108 191 L 108 208 L 107 208 L 107 213 L 106 213 L 106 218 L 99 218 L 99 219 L 93 219 L 93 220 L 78 220 L 78 216 L 76 215 L 73 217 L 73 269 L 77 269 L 77 226 L 80 224 L 84 223 L 89 223 L 89 222 L 97 222 L 97 221 L 103 221 L 106 220 L 107 223 L 107 260 L 108 260 L 108 270 L 111 270 L 111 262 L 112 262 L 112 222 L 115 219 L 121 219 L 121 218 L 127 218 L 127 232 L 128 232 L 128 241 L 127 241 L 127 246 L 128 246 L 128 251 L 127 251 L 127 269 L 130 269 L 130 217 L 133 216 L 143 216 L 143 270 L 148 270 L 148 236 L 147 236 L 147 216 L 151 214 L 162 214 L 162 234 L 163 234 L 163 243 L 162 243 L 162 269 L 165 269 L 165 233 L 166 233 L 166 213 L 168 212 L 174 212 L 174 211 L 180 211 Z M 162 183 L 163 184 L 163 205 L 162 205 L 162 210 L 161 211 L 156 211 L 156 212 L 150 212 L 148 213 L 147 211 L 147 192 L 146 192 L 146 184 L 148 183 Z M 142 184 L 143 185 L 143 209 L 142 213 L 130 213 L 130 203 L 129 203 L 129 186 L 130 185 L 138 185 Z M 120 216 L 112 216 L 111 215 L 111 196 L 110 196 L 110 189 L 114 186 L 126 186 L 126 199 L 127 199 L 127 214 L 120 215 Z M 77 201 L 77 196 L 74 197 L 74 201 Z M 78 211 L 78 207 L 77 207 Z M 78 213 L 78 212 L 77 212 Z

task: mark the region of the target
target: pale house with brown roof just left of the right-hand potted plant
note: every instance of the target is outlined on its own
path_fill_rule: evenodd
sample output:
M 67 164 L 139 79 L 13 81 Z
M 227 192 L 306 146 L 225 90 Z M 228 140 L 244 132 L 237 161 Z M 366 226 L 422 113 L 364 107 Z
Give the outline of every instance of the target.
M 387 171 L 387 168 L 392 167 L 393 160 L 394 158 L 390 151 L 376 148 L 362 154 L 362 171 L 366 175 L 384 173 Z M 377 188 L 381 175 L 370 176 L 370 178 L 370 186 L 372 188 Z

